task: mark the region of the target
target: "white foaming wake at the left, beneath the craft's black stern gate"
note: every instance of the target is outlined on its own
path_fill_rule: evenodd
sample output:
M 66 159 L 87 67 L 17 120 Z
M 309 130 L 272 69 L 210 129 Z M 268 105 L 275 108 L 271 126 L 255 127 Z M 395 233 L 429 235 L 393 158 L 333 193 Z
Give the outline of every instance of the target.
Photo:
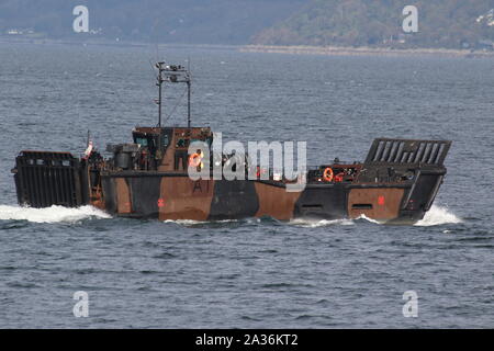
M 111 218 L 111 216 L 92 206 L 77 208 L 52 206 L 33 208 L 22 206 L 0 205 L 0 220 L 29 220 L 34 223 L 78 222 L 87 218 Z

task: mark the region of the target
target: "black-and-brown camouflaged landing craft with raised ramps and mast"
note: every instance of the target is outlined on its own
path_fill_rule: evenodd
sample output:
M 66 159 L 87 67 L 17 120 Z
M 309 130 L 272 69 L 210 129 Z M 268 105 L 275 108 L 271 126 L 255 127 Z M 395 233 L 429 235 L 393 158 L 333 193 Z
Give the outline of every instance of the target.
M 24 150 L 14 173 L 21 205 L 78 207 L 90 204 L 124 217 L 166 219 L 237 219 L 270 216 L 293 218 L 358 218 L 413 224 L 430 208 L 446 176 L 448 140 L 377 138 L 363 162 L 333 162 L 308 168 L 297 180 L 273 169 L 245 167 L 244 180 L 207 177 L 193 180 L 188 170 L 213 176 L 213 165 L 238 155 L 191 152 L 202 141 L 211 147 L 209 127 L 192 127 L 189 71 L 156 64 L 158 124 L 135 127 L 133 143 L 109 145 L 103 158 L 88 140 L 81 158 L 70 152 Z M 161 126 L 164 83 L 188 87 L 188 122 L 183 127 Z M 212 151 L 212 150 L 211 150 Z M 247 155 L 242 159 L 248 160 Z M 287 191 L 303 179 L 301 191 Z

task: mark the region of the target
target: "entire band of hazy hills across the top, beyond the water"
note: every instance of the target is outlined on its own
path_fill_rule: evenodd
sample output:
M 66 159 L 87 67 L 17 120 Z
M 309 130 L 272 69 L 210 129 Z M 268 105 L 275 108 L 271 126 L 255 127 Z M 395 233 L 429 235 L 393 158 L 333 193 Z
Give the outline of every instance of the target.
M 89 33 L 72 31 L 80 4 Z M 411 4 L 418 33 L 404 34 Z M 0 36 L 474 48 L 494 41 L 494 0 L 0 0 Z

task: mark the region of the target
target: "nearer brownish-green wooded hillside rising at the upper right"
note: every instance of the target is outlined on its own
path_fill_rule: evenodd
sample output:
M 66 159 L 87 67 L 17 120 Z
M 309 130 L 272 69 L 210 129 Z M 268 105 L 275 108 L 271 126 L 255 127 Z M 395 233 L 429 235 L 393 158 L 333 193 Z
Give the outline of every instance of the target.
M 405 5 L 418 33 L 404 34 Z M 494 39 L 494 0 L 311 0 L 252 37 L 268 45 L 476 47 Z

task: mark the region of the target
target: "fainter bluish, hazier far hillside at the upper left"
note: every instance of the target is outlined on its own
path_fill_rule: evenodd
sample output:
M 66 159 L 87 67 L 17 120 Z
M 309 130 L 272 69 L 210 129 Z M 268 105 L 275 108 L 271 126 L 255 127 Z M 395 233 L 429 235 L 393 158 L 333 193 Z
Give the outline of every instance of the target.
M 0 0 L 0 35 L 159 43 L 246 44 L 306 0 Z M 72 9 L 90 33 L 74 33 Z

